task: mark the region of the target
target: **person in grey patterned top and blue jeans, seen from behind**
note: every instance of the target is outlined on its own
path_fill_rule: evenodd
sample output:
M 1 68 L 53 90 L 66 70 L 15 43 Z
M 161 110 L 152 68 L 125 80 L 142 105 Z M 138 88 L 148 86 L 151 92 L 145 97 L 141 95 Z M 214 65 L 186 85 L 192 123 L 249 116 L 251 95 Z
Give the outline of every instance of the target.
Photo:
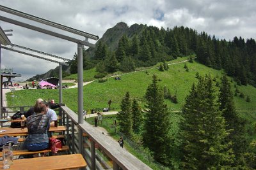
M 28 137 L 24 142 L 24 149 L 31 151 L 44 150 L 49 148 L 47 131 L 49 129 L 50 117 L 46 114 L 47 107 L 43 103 L 36 104 L 34 111 L 35 113 L 26 120 Z

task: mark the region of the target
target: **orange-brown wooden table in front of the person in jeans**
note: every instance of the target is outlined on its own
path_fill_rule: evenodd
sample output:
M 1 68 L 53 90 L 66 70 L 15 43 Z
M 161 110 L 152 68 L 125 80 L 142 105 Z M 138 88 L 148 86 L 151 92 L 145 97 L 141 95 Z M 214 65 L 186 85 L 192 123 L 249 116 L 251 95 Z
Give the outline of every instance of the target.
M 59 125 L 58 127 L 50 127 L 49 132 L 63 132 L 66 131 L 67 127 Z M 1 132 L 3 131 L 4 132 Z M 5 131 L 6 130 L 6 131 Z M 0 128 L 0 137 L 1 136 L 26 136 L 28 135 L 28 128 L 11 128 L 11 127 L 2 127 Z

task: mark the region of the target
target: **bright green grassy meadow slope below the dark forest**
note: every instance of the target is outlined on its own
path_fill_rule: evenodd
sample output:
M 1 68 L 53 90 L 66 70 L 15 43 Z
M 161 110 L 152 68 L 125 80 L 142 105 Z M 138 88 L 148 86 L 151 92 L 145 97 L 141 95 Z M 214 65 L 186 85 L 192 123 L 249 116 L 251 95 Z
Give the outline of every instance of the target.
M 141 71 L 136 71 L 133 73 L 126 73 L 120 75 L 121 80 L 115 80 L 113 77 L 108 78 L 108 81 L 104 83 L 99 83 L 95 80 L 93 76 L 95 75 L 95 69 L 90 69 L 84 71 L 84 80 L 93 81 L 92 83 L 84 86 L 84 109 L 92 110 L 99 108 L 108 107 L 108 101 L 111 99 L 113 102 L 111 108 L 113 110 L 120 109 L 120 101 L 124 97 L 125 92 L 129 91 L 132 98 L 138 99 L 141 106 L 145 104 L 144 95 L 148 84 L 152 81 L 152 75 L 156 74 L 159 78 L 159 85 L 162 87 L 166 86 L 170 89 L 172 94 L 177 93 L 178 104 L 173 104 L 166 100 L 170 110 L 179 111 L 184 104 L 186 95 L 188 95 L 191 85 L 197 81 L 196 72 L 200 75 L 211 74 L 212 77 L 216 77 L 216 81 L 220 81 L 219 78 L 223 74 L 223 71 L 218 71 L 211 69 L 210 67 L 205 67 L 197 62 L 186 62 L 189 71 L 184 69 L 184 63 L 177 63 L 186 58 L 179 58 L 177 60 L 172 60 L 171 63 L 176 63 L 170 65 L 168 71 L 158 71 L 157 66 L 143 69 Z M 117 73 L 116 73 L 117 74 Z M 68 76 L 68 78 L 76 78 L 77 75 Z M 232 82 L 233 92 L 235 90 L 234 85 L 236 82 Z M 240 98 L 239 96 L 234 97 L 235 105 L 239 113 L 243 113 L 242 116 L 256 119 L 255 114 L 255 104 L 256 104 L 256 90 L 254 87 L 248 86 L 237 86 L 240 92 L 243 92 L 245 96 L 250 96 L 250 103 L 246 102 L 245 98 Z M 20 90 L 14 92 L 15 97 L 11 97 L 10 94 L 7 95 L 9 106 L 21 106 L 21 105 L 33 105 L 35 100 L 39 97 L 43 99 L 54 98 L 58 102 L 58 90 Z M 63 103 L 67 104 L 69 108 L 77 111 L 77 89 L 64 89 L 63 90 Z

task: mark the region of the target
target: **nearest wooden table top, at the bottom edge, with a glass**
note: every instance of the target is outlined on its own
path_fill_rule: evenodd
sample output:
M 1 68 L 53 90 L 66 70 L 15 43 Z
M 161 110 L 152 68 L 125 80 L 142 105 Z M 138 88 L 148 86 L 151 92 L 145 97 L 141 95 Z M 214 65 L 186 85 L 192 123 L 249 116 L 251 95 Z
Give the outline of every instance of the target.
M 40 169 L 74 169 L 86 167 L 87 164 L 83 156 L 78 154 L 58 155 L 51 157 L 38 157 L 31 159 L 15 159 L 10 167 L 12 169 L 22 170 L 40 170 Z M 0 169 L 3 169 L 3 161 L 0 161 Z

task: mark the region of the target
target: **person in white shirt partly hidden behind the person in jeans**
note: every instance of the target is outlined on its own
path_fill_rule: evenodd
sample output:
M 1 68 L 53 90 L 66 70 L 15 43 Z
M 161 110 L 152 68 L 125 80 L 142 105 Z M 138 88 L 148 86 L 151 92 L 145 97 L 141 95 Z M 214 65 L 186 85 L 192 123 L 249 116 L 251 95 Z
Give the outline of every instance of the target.
M 54 120 L 58 120 L 56 112 L 54 110 L 52 110 L 51 108 L 49 108 L 49 104 L 47 102 L 45 102 L 43 99 L 37 99 L 35 106 L 40 103 L 44 103 L 46 105 L 46 107 L 47 107 L 46 114 L 50 117 L 50 122 L 51 122 L 50 126 L 54 127 Z M 30 115 L 33 115 L 33 113 L 35 113 L 34 107 L 29 108 L 29 110 L 25 113 L 26 118 L 28 118 Z

